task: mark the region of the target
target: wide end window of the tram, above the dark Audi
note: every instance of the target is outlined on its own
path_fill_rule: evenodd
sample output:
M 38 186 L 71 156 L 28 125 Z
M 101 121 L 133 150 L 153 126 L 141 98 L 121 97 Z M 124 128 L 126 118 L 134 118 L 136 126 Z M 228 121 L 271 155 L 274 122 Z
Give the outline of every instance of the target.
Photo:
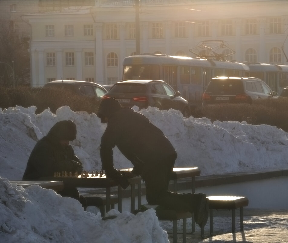
M 158 65 L 126 65 L 123 69 L 123 79 L 159 80 Z

